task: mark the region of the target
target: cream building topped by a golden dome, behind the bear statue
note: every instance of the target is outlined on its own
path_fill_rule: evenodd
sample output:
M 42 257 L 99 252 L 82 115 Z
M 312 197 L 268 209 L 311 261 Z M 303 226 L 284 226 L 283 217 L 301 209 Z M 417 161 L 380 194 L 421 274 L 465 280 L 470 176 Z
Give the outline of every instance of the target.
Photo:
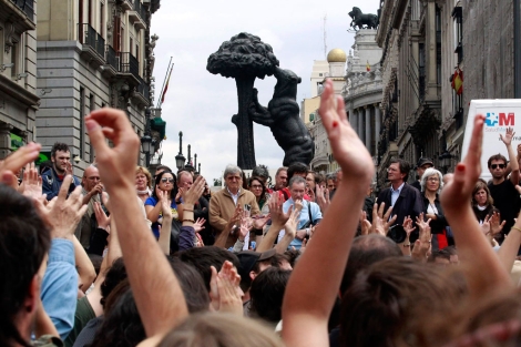
M 341 49 L 333 49 L 329 51 L 327 54 L 329 71 L 324 73 L 324 76 L 318 84 L 318 94 L 321 93 L 321 84 L 325 82 L 326 78 L 333 81 L 335 94 L 341 94 L 343 88 L 346 83 L 346 52 L 344 52 Z M 318 96 L 315 99 L 318 100 Z M 338 163 L 333 156 L 333 151 L 329 145 L 329 140 L 327 139 L 326 129 L 324 127 L 320 115 L 316 109 L 314 112 L 311 112 L 309 116 L 309 123 L 307 125 L 309 133 L 311 134 L 311 137 L 315 142 L 315 156 L 309 163 L 309 166 L 316 172 L 334 172 L 338 169 Z

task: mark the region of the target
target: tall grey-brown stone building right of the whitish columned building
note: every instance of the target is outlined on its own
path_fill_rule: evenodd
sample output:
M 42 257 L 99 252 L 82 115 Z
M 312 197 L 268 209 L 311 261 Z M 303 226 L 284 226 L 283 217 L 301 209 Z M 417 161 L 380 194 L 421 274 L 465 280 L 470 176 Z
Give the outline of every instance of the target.
M 413 166 L 427 156 L 440 167 L 447 150 L 457 151 L 457 144 L 452 141 L 448 147 L 446 139 L 461 126 L 457 122 L 461 94 L 456 95 L 451 78 L 462 62 L 456 0 L 385 0 L 380 6 L 376 41 L 382 48 L 381 186 L 391 157 L 402 157 Z M 415 175 L 409 178 L 413 181 Z

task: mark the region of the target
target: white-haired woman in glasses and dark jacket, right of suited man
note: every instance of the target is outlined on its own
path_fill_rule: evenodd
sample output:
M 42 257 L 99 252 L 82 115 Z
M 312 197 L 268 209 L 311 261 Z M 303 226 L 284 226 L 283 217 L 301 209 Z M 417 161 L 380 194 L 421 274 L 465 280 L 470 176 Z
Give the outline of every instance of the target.
M 430 220 L 430 232 L 432 234 L 432 251 L 443 249 L 453 245 L 452 237 L 447 235 L 447 218 L 441 210 L 439 194 L 443 187 L 443 176 L 441 172 L 433 167 L 429 167 L 421 173 L 421 195 L 423 198 L 423 215 Z M 418 238 L 418 232 L 415 231 L 410 235 L 410 242 L 413 243 Z

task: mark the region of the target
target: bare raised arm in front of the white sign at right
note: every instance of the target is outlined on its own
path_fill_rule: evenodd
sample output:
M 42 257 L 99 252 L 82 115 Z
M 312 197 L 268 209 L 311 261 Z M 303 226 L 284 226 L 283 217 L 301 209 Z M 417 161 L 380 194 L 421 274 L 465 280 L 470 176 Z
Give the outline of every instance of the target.
M 483 140 L 483 115 L 477 115 L 467 156 L 456 166 L 453 178 L 441 192 L 441 206 L 454 234 L 458 256 L 473 296 L 490 293 L 496 288 L 511 286 L 508 273 L 480 229 L 469 204 L 472 190 L 481 173 L 481 146 Z M 477 257 L 476 255 L 480 256 Z

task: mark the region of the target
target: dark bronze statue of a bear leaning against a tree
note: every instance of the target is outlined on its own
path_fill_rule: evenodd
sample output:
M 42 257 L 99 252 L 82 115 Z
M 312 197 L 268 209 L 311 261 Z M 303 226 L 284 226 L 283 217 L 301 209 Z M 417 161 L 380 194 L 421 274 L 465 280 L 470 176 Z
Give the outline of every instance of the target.
M 235 79 L 238 112 L 232 116 L 237 126 L 237 165 L 243 170 L 256 166 L 253 122 L 269 126 L 275 140 L 285 151 L 284 165 L 293 162 L 309 164 L 313 141 L 302 122 L 296 102 L 297 84 L 294 72 L 278 68 L 278 60 L 269 44 L 256 35 L 242 32 L 223 42 L 217 52 L 208 57 L 206 65 L 213 74 Z M 277 79 L 273 100 L 265 109 L 258 104 L 255 79 L 273 75 Z

